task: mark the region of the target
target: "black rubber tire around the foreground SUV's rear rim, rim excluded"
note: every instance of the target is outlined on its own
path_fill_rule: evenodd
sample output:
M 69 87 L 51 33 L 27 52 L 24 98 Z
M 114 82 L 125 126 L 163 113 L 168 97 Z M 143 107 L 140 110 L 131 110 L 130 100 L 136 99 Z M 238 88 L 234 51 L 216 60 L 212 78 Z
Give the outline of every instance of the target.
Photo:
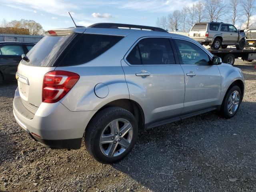
M 101 149 L 102 145 L 100 145 L 100 138 L 101 138 L 102 132 L 105 130 L 108 124 L 110 124 L 110 122 L 116 119 L 125 119 L 128 122 L 130 122 L 133 130 L 132 139 L 130 141 L 130 144 L 128 145 L 128 148 L 126 148 L 123 152 L 121 152 L 121 154 L 117 156 L 109 157 L 102 152 L 102 149 Z M 114 135 L 113 138 L 114 137 L 116 136 Z M 130 150 L 132 150 L 137 140 L 137 137 L 138 137 L 138 122 L 136 118 L 133 116 L 133 114 L 130 113 L 128 110 L 125 110 L 120 107 L 109 107 L 98 112 L 98 114 L 96 114 L 92 118 L 92 120 L 88 124 L 88 127 L 86 128 L 84 142 L 85 142 L 87 151 L 93 158 L 95 158 L 97 161 L 101 163 L 111 164 L 111 163 L 115 163 L 122 160 L 130 152 Z M 114 141 L 116 141 L 116 138 L 113 140 L 113 143 Z M 108 145 L 111 145 L 113 143 L 112 142 L 108 143 Z M 116 145 L 120 147 L 120 144 L 116 144 Z M 118 146 L 116 147 L 116 150 L 119 153 Z M 111 147 L 111 146 L 108 146 L 108 147 Z

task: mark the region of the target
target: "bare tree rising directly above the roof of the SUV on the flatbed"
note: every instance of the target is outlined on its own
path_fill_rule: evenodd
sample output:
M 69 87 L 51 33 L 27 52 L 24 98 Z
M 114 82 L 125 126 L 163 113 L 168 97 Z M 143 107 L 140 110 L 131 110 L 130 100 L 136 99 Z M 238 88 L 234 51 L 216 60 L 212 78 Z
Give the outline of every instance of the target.
M 206 0 L 204 2 L 206 18 L 210 22 L 218 22 L 222 20 L 225 12 L 225 4 L 223 0 Z

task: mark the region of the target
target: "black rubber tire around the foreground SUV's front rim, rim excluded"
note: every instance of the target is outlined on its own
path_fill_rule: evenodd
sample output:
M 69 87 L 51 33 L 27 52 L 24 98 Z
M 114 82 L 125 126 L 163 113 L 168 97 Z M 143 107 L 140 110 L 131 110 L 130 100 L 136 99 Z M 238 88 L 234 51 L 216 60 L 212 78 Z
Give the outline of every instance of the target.
M 230 114 L 230 112 L 228 110 L 229 98 L 234 91 L 237 91 L 239 93 L 239 103 L 238 103 L 236 110 L 232 114 Z M 220 116 L 222 116 L 226 119 L 232 118 L 237 113 L 241 102 L 242 102 L 241 90 L 238 86 L 235 85 L 228 90 L 228 92 L 226 93 L 226 95 L 224 97 L 224 100 L 222 102 L 222 106 L 221 106 L 220 112 L 219 112 Z

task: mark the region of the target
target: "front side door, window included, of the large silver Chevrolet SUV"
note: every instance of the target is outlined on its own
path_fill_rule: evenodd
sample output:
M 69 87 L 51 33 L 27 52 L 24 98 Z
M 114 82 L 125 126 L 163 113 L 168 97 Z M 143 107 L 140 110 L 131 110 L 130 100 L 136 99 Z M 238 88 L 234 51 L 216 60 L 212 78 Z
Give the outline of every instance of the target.
M 220 100 L 221 76 L 218 66 L 200 45 L 175 39 L 180 63 L 185 74 L 185 98 L 182 113 L 216 107 Z

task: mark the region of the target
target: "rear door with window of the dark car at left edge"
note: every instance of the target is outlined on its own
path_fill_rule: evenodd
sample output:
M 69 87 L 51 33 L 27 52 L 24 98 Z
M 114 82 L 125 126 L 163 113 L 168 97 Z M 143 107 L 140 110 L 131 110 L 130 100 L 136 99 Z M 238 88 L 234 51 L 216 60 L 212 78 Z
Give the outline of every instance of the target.
M 8 79 L 15 79 L 21 55 L 25 53 L 22 44 L 0 45 L 0 70 Z

